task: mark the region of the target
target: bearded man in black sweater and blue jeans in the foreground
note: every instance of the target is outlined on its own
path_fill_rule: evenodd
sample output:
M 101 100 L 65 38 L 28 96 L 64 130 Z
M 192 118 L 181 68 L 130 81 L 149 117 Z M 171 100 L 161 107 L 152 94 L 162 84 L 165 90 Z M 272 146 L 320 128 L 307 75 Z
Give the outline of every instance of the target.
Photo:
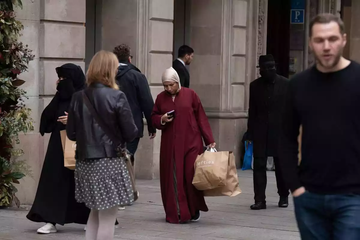
M 287 92 L 280 166 L 306 240 L 360 239 L 360 65 L 343 58 L 345 45 L 342 20 L 316 16 L 309 39 L 316 65 Z

